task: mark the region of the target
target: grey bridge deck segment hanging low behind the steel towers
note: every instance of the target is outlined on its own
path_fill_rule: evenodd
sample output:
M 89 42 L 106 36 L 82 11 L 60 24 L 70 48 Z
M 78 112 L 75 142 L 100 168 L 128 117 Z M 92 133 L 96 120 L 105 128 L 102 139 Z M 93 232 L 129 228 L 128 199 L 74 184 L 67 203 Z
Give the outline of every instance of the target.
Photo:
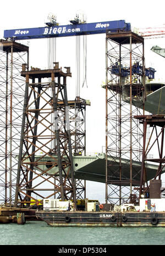
M 35 156 L 37 159 L 37 156 Z M 38 167 L 43 171 L 47 170 L 53 162 L 50 157 L 43 157 L 42 162 L 38 163 Z M 46 164 L 47 162 L 47 164 Z M 116 159 L 114 162 L 114 157 L 112 161 L 112 157 L 108 156 L 108 176 L 109 179 L 115 182 L 116 186 L 120 185 L 119 181 L 119 159 Z M 122 160 L 122 181 L 124 182 L 124 186 L 129 186 L 129 160 Z M 73 156 L 73 165 L 74 165 L 74 177 L 76 179 L 85 179 L 87 181 L 95 181 L 95 182 L 106 182 L 106 173 L 105 173 L 105 165 L 106 165 L 106 156 L 104 153 L 91 155 L 91 156 Z M 140 172 L 137 174 L 137 170 L 140 169 L 141 163 L 138 161 L 133 161 L 133 184 L 134 186 L 138 186 L 140 182 Z M 37 167 L 36 167 L 37 168 Z M 51 168 L 50 171 L 47 171 L 47 174 L 52 175 L 53 173 L 57 173 L 57 167 Z M 158 166 L 153 164 L 146 164 L 146 174 L 147 181 L 155 177 L 155 173 L 157 171 Z M 165 168 L 163 169 L 163 173 Z

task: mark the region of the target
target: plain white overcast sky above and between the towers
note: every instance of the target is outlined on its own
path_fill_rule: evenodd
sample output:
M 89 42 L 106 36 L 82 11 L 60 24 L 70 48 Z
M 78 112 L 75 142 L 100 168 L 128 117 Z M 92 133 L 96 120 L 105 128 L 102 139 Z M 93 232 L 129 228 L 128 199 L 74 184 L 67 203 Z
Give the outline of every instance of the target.
M 4 4 L 4 2 L 3 2 Z M 125 20 L 131 28 L 148 28 L 165 24 L 165 2 L 162 0 L 148 1 L 98 1 L 98 0 L 62 0 L 62 1 L 8 1 L 0 9 L 0 38 L 6 29 L 37 28 L 45 26 L 48 13 L 57 16 L 60 25 L 69 24 L 78 10 L 84 12 L 87 23 Z M 91 101 L 86 110 L 86 151 L 101 152 L 105 150 L 105 90 L 101 84 L 106 80 L 106 48 L 105 34 L 87 36 L 87 86 L 80 89 L 80 96 Z M 24 43 L 24 42 L 23 42 Z M 27 42 L 26 42 L 27 43 Z M 47 67 L 47 40 L 30 40 L 30 66 L 38 68 Z M 161 39 L 145 40 L 146 67 L 156 69 L 156 79 L 164 79 L 164 61 L 150 49 L 153 45 L 165 47 L 165 37 Z M 82 46 L 81 46 L 82 47 Z M 56 60 L 60 67 L 69 66 L 72 78 L 68 78 L 68 99 L 75 98 L 75 37 L 57 39 Z M 81 72 L 83 64 L 81 63 Z M 90 184 L 90 182 L 89 182 Z M 105 198 L 105 185 L 92 183 L 88 189 L 87 197 L 93 199 Z M 90 186 L 89 186 L 90 187 Z M 95 192 L 97 190 L 97 192 Z

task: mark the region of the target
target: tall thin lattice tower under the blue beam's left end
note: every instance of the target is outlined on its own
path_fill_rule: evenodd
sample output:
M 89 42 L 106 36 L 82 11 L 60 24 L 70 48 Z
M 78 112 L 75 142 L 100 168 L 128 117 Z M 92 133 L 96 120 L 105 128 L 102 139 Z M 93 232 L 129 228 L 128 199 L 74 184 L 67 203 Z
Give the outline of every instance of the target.
M 29 63 L 29 47 L 13 41 L 0 41 L 0 200 L 11 205 L 15 195 L 23 113 L 25 78 L 23 63 Z

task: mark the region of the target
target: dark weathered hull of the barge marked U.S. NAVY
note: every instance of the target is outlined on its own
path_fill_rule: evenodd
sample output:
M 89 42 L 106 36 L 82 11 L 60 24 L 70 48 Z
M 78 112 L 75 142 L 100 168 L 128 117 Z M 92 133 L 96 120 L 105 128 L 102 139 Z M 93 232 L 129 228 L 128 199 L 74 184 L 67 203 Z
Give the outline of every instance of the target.
M 36 217 L 53 227 L 165 227 L 165 212 L 36 211 Z

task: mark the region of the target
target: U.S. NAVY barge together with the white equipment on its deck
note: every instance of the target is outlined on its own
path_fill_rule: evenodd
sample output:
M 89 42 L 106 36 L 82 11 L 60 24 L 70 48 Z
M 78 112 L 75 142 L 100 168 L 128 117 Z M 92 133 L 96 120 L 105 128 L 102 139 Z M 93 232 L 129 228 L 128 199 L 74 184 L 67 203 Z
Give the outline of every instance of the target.
M 53 227 L 164 227 L 165 198 L 142 198 L 139 205 L 119 206 L 86 201 L 85 210 L 75 210 L 71 201 L 44 199 L 36 217 Z

